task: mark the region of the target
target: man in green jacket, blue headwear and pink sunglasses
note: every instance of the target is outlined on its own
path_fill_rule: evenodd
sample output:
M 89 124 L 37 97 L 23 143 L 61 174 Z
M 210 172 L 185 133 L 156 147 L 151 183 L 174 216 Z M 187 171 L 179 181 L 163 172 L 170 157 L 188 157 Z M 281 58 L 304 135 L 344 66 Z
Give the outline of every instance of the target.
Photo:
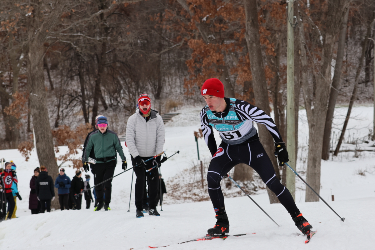
M 122 151 L 120 140 L 115 132 L 107 128 L 107 117 L 99 117 L 97 125 L 98 130 L 91 133 L 84 151 L 84 166 L 88 166 L 91 151 L 93 150 L 95 153 L 96 163 L 95 165 L 91 164 L 91 171 L 94 174 L 94 184 L 101 183 L 102 181 L 113 177 L 117 163 L 117 153 L 121 157 L 122 169 L 126 170 L 127 168 L 126 158 Z M 103 197 L 103 188 L 105 188 L 105 199 Z M 103 206 L 104 210 L 111 210 L 109 205 L 111 202 L 112 179 L 106 181 L 104 184 L 96 186 L 95 191 L 99 203 L 94 211 L 101 210 Z

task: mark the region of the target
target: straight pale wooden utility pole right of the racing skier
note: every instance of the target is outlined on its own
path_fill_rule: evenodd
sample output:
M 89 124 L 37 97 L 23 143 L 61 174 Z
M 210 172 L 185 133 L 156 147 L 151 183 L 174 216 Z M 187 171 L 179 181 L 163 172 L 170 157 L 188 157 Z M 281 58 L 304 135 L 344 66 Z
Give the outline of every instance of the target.
M 294 108 L 294 7 L 293 0 L 288 1 L 288 58 L 287 58 L 287 150 L 289 154 L 289 165 L 296 169 L 296 127 Z M 296 199 L 296 175 L 286 168 L 287 188 Z M 284 173 L 283 173 L 284 174 Z

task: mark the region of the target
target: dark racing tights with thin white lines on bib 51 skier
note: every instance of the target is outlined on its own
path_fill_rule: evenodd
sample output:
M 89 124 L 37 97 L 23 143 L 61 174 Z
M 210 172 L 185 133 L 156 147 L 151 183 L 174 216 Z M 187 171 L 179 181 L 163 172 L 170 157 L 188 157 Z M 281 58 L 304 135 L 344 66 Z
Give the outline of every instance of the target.
M 289 190 L 276 177 L 275 169 L 259 139 L 245 145 L 228 145 L 222 142 L 208 166 L 208 194 L 214 208 L 224 207 L 224 196 L 220 187 L 223 176 L 239 163 L 251 166 L 266 186 L 279 198 L 289 213 L 297 210 Z

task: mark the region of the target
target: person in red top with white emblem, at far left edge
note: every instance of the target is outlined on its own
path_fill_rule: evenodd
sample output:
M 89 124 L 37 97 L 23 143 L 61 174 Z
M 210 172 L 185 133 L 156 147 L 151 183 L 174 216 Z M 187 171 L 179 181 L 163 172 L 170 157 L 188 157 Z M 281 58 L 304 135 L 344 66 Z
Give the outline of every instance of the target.
M 7 162 L 5 163 L 4 172 L 0 176 L 1 179 L 1 186 L 5 187 L 5 199 L 8 202 L 8 214 L 5 219 L 11 219 L 15 207 L 15 202 L 12 194 L 12 185 L 13 181 L 17 184 L 17 175 L 14 170 L 12 170 L 12 163 Z M 5 204 L 3 205 L 3 210 L 5 210 Z

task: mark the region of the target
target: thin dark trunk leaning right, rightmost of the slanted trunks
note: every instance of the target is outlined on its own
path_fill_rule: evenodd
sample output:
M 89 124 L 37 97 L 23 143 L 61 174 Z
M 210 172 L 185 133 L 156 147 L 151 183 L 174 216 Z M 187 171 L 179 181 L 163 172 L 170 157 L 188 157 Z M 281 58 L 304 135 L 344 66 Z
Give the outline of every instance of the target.
M 344 139 L 345 130 L 347 129 L 347 126 L 348 126 L 348 122 L 349 122 L 349 118 L 350 118 L 350 114 L 351 114 L 351 109 L 353 108 L 354 101 L 357 99 L 359 75 L 362 71 L 363 60 L 365 60 L 365 54 L 366 54 L 366 51 L 367 51 L 367 45 L 368 45 L 370 34 L 371 34 L 371 23 L 369 22 L 368 25 L 367 25 L 366 37 L 365 37 L 365 40 L 364 40 L 363 46 L 362 46 L 362 54 L 361 54 L 361 58 L 360 58 L 360 61 L 359 61 L 359 66 L 358 66 L 357 72 L 356 72 L 356 79 L 354 81 L 353 93 L 352 93 L 352 96 L 351 96 L 350 102 L 349 102 L 348 113 L 347 113 L 347 116 L 345 117 L 344 126 L 342 127 L 341 135 L 340 135 L 339 141 L 338 141 L 336 149 L 335 149 L 335 153 L 334 153 L 335 156 L 337 156 L 337 154 L 339 153 L 342 140 Z

